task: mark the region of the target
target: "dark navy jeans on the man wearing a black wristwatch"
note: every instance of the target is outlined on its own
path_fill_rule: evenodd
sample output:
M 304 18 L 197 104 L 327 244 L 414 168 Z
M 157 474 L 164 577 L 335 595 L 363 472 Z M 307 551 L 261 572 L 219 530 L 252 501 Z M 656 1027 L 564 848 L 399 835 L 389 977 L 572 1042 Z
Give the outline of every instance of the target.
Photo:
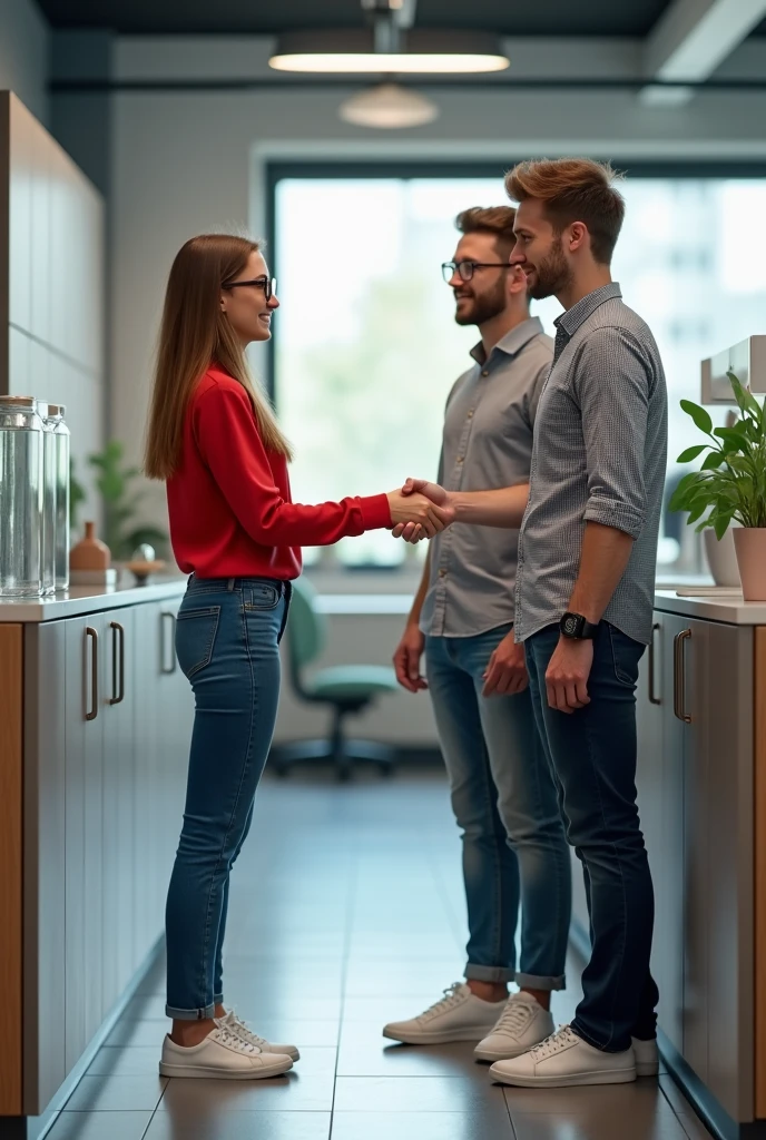
M 657 1034 L 659 994 L 649 969 L 652 877 L 636 806 L 636 681 L 644 646 L 602 621 L 588 679 L 590 703 L 548 706 L 545 674 L 559 644 L 548 626 L 525 643 L 538 726 L 554 768 L 567 839 L 582 863 L 592 953 L 572 1028 L 606 1052 Z

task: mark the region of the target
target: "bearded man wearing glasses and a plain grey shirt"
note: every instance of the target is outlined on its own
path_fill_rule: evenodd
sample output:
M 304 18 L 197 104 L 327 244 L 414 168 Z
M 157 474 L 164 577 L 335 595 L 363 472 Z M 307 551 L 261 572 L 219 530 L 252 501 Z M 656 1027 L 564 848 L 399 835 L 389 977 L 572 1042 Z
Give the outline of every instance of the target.
M 456 320 L 476 325 L 474 365 L 447 400 L 439 479 L 453 491 L 527 484 L 537 402 L 553 342 L 529 315 L 508 256 L 515 211 L 466 210 L 443 267 Z M 536 725 L 523 648 L 515 644 L 518 531 L 454 527 L 432 540 L 394 663 L 427 687 L 463 830 L 470 939 L 465 984 L 384 1035 L 409 1044 L 478 1041 L 476 1057 L 515 1057 L 553 1033 L 564 985 L 571 871 L 555 785 Z M 516 925 L 522 906 L 516 971 Z M 520 992 L 508 999 L 508 983 Z

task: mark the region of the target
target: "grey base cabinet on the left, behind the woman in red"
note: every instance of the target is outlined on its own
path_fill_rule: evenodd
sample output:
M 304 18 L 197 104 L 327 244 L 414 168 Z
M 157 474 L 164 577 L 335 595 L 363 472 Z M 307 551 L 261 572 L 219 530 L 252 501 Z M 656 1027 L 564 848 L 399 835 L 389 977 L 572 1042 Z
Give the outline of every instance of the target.
M 24 1062 L 7 1115 L 46 1108 L 162 936 L 194 711 L 173 644 L 180 598 L 15 627 Z

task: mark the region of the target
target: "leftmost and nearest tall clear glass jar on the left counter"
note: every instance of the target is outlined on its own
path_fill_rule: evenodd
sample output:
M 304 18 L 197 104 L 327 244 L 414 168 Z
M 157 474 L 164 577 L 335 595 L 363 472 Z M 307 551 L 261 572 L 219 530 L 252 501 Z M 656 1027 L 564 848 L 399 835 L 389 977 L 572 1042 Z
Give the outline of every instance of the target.
M 0 596 L 42 594 L 43 426 L 32 396 L 0 396 Z

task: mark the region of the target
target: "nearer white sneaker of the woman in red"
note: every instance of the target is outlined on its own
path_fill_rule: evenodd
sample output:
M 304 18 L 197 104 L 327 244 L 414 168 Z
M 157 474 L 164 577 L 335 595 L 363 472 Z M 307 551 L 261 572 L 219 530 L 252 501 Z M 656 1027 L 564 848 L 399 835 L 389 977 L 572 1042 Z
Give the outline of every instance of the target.
M 169 1036 L 162 1047 L 161 1076 L 217 1077 L 220 1081 L 258 1081 L 293 1067 L 291 1057 L 264 1053 L 238 1033 L 215 1021 L 198 1045 L 177 1045 Z

